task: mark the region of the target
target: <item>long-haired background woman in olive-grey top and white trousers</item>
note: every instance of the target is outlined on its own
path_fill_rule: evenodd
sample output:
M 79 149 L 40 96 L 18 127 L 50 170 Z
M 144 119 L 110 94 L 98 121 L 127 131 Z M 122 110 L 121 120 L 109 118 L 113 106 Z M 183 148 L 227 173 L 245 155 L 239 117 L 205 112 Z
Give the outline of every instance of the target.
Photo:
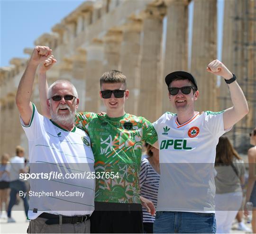
M 242 205 L 245 166 L 227 136 L 219 138 L 215 170 L 217 233 L 230 233 L 232 221 Z

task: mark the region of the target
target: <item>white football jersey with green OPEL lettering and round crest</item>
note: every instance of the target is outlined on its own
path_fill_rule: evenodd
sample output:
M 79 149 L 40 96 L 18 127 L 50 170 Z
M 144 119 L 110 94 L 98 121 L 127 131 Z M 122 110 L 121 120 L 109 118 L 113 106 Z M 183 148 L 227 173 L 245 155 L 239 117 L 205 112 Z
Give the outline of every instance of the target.
M 225 133 L 223 111 L 198 112 L 180 125 L 166 112 L 154 124 L 159 142 L 157 211 L 214 213 L 214 162 Z

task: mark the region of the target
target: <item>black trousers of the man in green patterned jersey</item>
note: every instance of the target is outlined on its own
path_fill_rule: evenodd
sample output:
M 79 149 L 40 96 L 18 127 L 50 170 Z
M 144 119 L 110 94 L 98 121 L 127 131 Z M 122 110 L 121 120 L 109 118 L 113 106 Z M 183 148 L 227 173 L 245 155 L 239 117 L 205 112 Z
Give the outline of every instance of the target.
M 143 233 L 141 204 L 95 202 L 91 233 Z

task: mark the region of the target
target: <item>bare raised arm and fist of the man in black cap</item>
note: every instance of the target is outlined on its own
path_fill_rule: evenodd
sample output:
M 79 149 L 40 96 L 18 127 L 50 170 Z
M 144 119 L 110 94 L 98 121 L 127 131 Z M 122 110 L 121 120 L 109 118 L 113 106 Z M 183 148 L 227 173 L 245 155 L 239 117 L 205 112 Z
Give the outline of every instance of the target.
M 222 76 L 226 80 L 233 78 L 233 74 L 219 60 L 214 60 L 209 63 L 207 71 L 213 73 L 214 75 Z M 249 112 L 247 100 L 242 89 L 238 85 L 238 82 L 234 81 L 228 84 L 228 87 L 233 107 L 226 109 L 223 113 L 223 123 L 225 130 L 235 125 Z

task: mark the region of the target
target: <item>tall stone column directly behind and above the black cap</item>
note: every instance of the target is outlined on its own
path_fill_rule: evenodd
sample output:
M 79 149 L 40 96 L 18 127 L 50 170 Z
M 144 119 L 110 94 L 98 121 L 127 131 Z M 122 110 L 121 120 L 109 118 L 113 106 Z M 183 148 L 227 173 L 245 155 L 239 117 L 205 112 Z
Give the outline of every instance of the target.
M 167 31 L 163 79 L 163 113 L 175 113 L 169 98 L 165 76 L 174 71 L 188 70 L 188 0 L 166 1 Z

